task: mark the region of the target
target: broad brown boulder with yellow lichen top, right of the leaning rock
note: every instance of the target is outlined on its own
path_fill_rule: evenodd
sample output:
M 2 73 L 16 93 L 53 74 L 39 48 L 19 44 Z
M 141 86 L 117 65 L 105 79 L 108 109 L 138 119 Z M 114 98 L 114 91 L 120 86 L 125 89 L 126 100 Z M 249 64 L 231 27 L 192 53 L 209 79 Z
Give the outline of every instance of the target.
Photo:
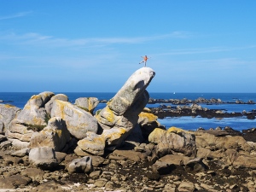
M 172 154 L 172 151 L 183 153 L 187 156 L 195 156 L 195 135 L 189 131 L 181 129 L 169 129 L 167 131 L 154 129 L 148 137 L 151 143 L 157 143 L 156 153 L 162 157 L 166 154 Z

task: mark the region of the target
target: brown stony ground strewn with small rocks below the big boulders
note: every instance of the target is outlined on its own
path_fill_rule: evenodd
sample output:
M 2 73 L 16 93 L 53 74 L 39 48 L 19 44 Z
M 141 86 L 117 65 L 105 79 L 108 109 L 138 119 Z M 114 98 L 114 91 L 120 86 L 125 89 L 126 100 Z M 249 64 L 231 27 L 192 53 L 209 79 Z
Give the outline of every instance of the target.
M 212 134 L 216 137 L 216 133 Z M 230 130 L 225 134 L 237 137 L 236 131 Z M 256 131 L 244 131 L 244 134 L 239 135 L 247 141 L 253 141 L 256 138 Z M 184 162 L 185 156 L 175 152 L 162 158 L 155 157 L 154 147 L 153 143 L 142 143 L 137 147 L 126 143 L 123 148 L 106 153 L 103 157 L 91 156 L 92 172 L 69 174 L 67 164 L 79 158 L 77 154 L 70 153 L 71 151 L 66 154 L 56 153 L 60 161 L 59 166 L 52 170 L 42 170 L 30 165 L 27 155 L 14 154 L 15 148 L 1 143 L 0 191 L 231 192 L 256 189 L 256 165 L 235 164 L 231 160 L 232 155 L 231 162 L 225 162 L 222 155 L 216 154 L 210 154 L 205 158 L 190 157 L 190 162 Z M 228 150 L 223 148 L 212 152 L 224 153 Z M 252 153 L 254 152 L 251 151 Z M 169 160 L 167 165 L 159 166 L 156 163 L 159 160 L 164 162 L 166 157 Z M 179 157 L 182 159 L 178 159 Z

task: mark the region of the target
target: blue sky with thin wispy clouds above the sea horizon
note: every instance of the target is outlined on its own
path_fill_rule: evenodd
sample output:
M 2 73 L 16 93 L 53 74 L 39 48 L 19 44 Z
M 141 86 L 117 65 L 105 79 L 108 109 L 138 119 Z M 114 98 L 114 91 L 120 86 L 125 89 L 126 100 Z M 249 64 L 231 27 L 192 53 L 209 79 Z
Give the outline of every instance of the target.
M 0 0 L 0 91 L 256 92 L 254 0 Z

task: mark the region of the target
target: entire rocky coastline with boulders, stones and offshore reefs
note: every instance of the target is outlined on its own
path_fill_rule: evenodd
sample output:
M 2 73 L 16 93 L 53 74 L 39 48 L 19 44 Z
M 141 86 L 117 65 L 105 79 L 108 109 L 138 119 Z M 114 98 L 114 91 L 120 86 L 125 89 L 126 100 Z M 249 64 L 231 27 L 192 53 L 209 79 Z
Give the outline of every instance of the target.
M 0 104 L 0 191 L 255 191 L 256 129 L 166 130 L 165 115 L 241 114 L 200 106 L 219 99 L 145 108 L 171 103 L 149 98 L 154 74 L 137 70 L 96 112 L 95 97 L 50 91 L 23 109 Z

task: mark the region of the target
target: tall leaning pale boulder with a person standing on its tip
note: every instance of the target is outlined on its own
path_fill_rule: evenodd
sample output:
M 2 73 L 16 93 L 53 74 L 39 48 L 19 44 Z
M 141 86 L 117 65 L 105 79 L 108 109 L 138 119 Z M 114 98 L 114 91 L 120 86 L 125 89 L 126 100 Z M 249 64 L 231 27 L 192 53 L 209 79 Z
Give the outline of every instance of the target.
M 154 74 L 154 71 L 149 67 L 138 69 L 118 93 L 108 101 L 106 108 L 96 114 L 96 119 L 102 126 L 103 134 L 108 139 L 108 145 L 119 145 L 137 125 L 138 114 L 148 103 L 149 95 L 146 88 L 154 78 Z M 108 131 L 113 128 L 116 131 Z M 115 134 L 117 131 L 119 137 L 115 135 L 113 142 L 111 142 L 109 139 L 112 138 L 111 134 Z

